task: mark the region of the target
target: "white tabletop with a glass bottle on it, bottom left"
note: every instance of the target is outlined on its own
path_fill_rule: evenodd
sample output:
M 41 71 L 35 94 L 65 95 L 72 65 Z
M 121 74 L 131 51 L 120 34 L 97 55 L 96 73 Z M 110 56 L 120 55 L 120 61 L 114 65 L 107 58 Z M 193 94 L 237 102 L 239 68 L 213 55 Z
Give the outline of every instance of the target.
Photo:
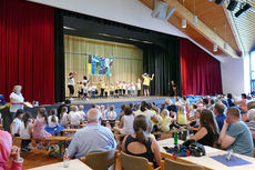
M 63 162 L 42 166 L 32 168 L 30 170 L 92 170 L 90 167 L 88 167 L 85 163 L 81 162 L 79 159 L 70 160 L 69 161 L 69 168 L 63 168 Z

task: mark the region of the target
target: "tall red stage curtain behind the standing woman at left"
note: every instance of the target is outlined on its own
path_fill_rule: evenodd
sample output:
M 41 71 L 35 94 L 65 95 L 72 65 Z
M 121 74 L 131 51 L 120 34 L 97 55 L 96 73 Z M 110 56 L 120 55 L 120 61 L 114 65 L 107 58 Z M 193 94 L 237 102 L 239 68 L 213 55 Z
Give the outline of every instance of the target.
M 0 93 L 13 86 L 27 101 L 54 102 L 54 10 L 26 0 L 0 1 Z

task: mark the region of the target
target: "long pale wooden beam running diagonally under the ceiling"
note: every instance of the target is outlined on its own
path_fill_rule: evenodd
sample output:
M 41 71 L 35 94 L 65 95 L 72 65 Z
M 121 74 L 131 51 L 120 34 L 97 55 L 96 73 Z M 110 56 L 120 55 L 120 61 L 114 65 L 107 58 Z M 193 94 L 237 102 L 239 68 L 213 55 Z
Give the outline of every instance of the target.
M 164 0 L 164 1 L 167 2 L 171 7 L 175 7 L 176 9 L 174 12 L 175 16 L 177 16 L 181 19 L 186 19 L 186 21 L 191 23 L 188 26 L 191 26 L 197 32 L 203 34 L 212 43 L 216 43 L 222 51 L 224 51 L 226 54 L 230 54 L 231 57 L 239 58 L 239 54 L 231 46 L 228 46 L 227 49 L 224 49 L 225 41 L 220 36 L 217 36 L 213 30 L 211 30 L 206 24 L 204 24 L 200 19 L 197 20 L 196 26 L 192 24 L 193 13 L 190 10 L 187 10 L 184 6 L 182 6 L 177 0 Z

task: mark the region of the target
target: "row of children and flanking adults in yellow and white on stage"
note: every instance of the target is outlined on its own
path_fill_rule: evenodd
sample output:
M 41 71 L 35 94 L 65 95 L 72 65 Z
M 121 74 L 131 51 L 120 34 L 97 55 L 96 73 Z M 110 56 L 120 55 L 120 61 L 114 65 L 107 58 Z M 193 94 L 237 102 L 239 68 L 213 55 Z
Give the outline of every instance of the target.
M 70 92 L 70 100 L 73 100 L 74 94 L 74 77 L 76 72 L 70 72 L 68 78 L 68 88 Z M 147 73 L 142 74 L 143 78 L 143 90 L 144 96 L 149 97 L 150 81 L 153 80 Z M 88 100 L 89 98 L 119 98 L 119 97 L 140 97 L 142 90 L 142 80 L 137 79 L 137 82 L 129 81 L 116 81 L 115 83 L 103 82 L 101 79 L 99 82 L 91 82 L 86 76 L 83 77 L 82 81 L 78 82 L 78 96 L 80 99 Z

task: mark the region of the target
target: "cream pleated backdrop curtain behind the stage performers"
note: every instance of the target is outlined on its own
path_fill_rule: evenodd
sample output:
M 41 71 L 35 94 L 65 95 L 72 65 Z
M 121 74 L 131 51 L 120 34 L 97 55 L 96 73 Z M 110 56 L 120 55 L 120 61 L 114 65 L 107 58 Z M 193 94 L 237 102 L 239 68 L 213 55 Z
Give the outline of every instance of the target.
M 137 81 L 143 73 L 143 50 L 125 43 L 101 41 L 73 36 L 64 36 L 65 54 L 65 96 L 69 96 L 67 79 L 69 72 L 78 72 L 75 82 L 88 76 L 93 82 L 102 79 L 111 83 L 115 81 Z M 89 56 L 103 56 L 113 59 L 111 76 L 89 76 Z M 76 83 L 75 83 L 76 84 Z M 75 89 L 75 96 L 76 96 Z

